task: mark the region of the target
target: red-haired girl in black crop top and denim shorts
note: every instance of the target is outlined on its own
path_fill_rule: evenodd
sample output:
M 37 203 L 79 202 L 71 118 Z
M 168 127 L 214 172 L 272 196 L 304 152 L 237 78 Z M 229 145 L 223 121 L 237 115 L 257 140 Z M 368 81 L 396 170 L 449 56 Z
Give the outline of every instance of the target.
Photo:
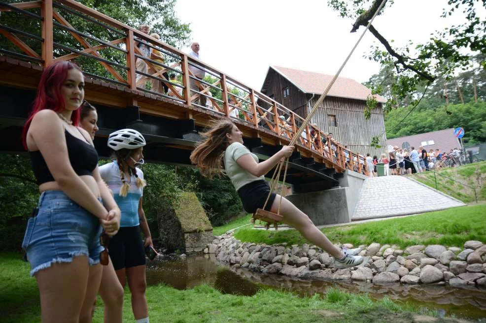
M 42 322 L 91 322 L 105 254 L 102 226 L 109 235 L 119 229 L 120 209 L 101 179 L 96 149 L 78 127 L 83 99 L 81 69 L 51 64 L 23 132 L 41 194 L 22 247 L 39 287 Z

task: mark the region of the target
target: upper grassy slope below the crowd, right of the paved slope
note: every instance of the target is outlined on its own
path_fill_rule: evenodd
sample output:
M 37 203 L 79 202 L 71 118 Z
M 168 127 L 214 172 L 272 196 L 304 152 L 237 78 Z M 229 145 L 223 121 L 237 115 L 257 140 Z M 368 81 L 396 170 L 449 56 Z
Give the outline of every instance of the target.
M 432 187 L 433 189 L 435 189 L 435 179 L 437 179 L 437 189 L 439 191 L 461 200 L 464 203 L 475 202 L 473 189 L 441 175 L 476 188 L 478 201 L 486 200 L 486 162 L 442 169 L 437 172 L 435 178 L 433 172 L 424 172 L 412 176 L 412 178 Z

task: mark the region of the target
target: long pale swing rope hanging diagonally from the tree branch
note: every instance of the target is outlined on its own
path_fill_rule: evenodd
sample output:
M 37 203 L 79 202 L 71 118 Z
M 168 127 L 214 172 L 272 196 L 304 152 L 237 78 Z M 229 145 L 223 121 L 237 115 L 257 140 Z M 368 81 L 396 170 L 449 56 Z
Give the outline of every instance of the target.
M 363 38 L 363 36 L 365 35 L 366 31 L 370 28 L 371 26 L 371 23 L 373 22 L 373 20 L 375 20 L 375 17 L 378 15 L 378 13 L 382 10 L 383 8 L 383 5 L 386 3 L 386 0 L 382 0 L 382 3 L 380 4 L 380 7 L 378 8 L 378 10 L 375 12 L 375 14 L 373 15 L 373 17 L 370 19 L 370 21 L 368 22 L 368 25 L 366 26 L 366 28 L 363 30 L 363 33 L 361 33 L 361 36 L 359 37 L 358 41 L 356 42 L 356 44 L 354 44 L 354 47 L 352 48 L 351 52 L 347 55 L 347 58 L 345 59 L 345 61 L 343 62 L 343 64 L 341 65 L 341 67 L 338 69 L 337 73 L 334 75 L 334 77 L 332 78 L 331 82 L 329 83 L 329 85 L 327 86 L 326 90 L 324 91 L 324 93 L 321 94 L 321 96 L 319 97 L 319 99 L 317 100 L 317 102 L 314 104 L 314 107 L 312 108 L 312 111 L 309 113 L 309 115 L 306 117 L 306 119 L 304 120 L 304 122 L 301 124 L 301 126 L 299 127 L 299 129 L 297 130 L 297 132 L 294 134 L 294 137 L 292 138 L 292 140 L 290 141 L 289 143 L 289 146 L 295 146 L 295 144 L 297 143 L 297 140 L 299 139 L 299 137 L 301 136 L 302 132 L 304 131 L 304 129 L 307 128 L 307 126 L 309 125 L 309 122 L 311 122 L 311 118 L 314 116 L 315 112 L 317 111 L 317 109 L 319 108 L 320 104 L 322 103 L 322 101 L 324 101 L 324 99 L 326 98 L 327 96 L 327 93 L 329 93 L 329 91 L 331 90 L 331 87 L 334 85 L 334 82 L 336 82 L 336 80 L 338 79 L 338 76 L 339 74 L 341 74 L 341 71 L 343 70 L 343 68 L 346 66 L 347 64 L 347 61 L 349 60 L 349 58 L 351 58 L 351 55 L 354 53 L 354 50 L 356 49 L 356 47 L 358 47 L 358 44 L 360 43 L 361 39 Z M 331 147 L 329 147 L 329 155 L 331 155 Z M 278 165 L 278 176 L 280 175 L 280 170 L 282 168 L 282 165 L 284 162 L 286 162 L 285 164 L 285 172 L 283 173 L 283 182 L 282 182 L 282 188 L 281 188 L 281 192 L 283 192 L 283 185 L 285 184 L 285 177 L 287 176 L 287 166 L 288 166 L 288 159 L 289 157 L 286 157 L 283 161 L 281 161 Z M 276 170 L 277 171 L 277 170 Z M 274 173 L 275 175 L 275 173 Z M 277 178 L 278 178 L 277 176 Z M 267 201 L 265 202 L 265 206 L 263 206 L 263 208 L 265 209 L 265 207 L 267 206 L 267 203 L 268 203 L 268 200 L 270 199 L 270 196 L 272 195 L 272 192 L 274 191 L 274 188 L 275 188 L 275 183 L 277 182 L 277 178 L 275 180 L 274 183 L 272 183 L 272 187 L 270 188 L 270 193 L 267 197 Z M 282 199 L 281 199 L 281 194 L 280 194 L 280 203 L 278 204 L 278 212 L 277 214 L 280 214 L 280 205 L 282 204 Z

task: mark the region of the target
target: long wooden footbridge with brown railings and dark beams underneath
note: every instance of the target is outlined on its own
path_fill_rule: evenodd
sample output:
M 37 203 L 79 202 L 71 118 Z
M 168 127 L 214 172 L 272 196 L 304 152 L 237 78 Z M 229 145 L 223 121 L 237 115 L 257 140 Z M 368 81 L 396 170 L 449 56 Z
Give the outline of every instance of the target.
M 23 151 L 21 129 L 40 75 L 58 60 L 74 61 L 84 71 L 85 98 L 99 114 L 95 145 L 104 156 L 107 134 L 132 127 L 146 136 L 147 160 L 189 164 L 198 132 L 210 119 L 230 118 L 245 145 L 266 159 L 290 142 L 304 120 L 203 61 L 74 0 L 0 2 L 0 13 L 0 134 L 11 139 L 0 143 L 2 151 Z M 136 44 L 160 51 L 164 60 L 144 57 Z M 136 69 L 137 60 L 147 65 L 146 73 Z M 210 78 L 196 78 L 194 68 Z M 199 105 L 201 96 L 207 106 Z M 325 145 L 323 136 L 308 126 L 299 138 L 287 174 L 295 191 L 334 187 L 347 169 L 367 174 L 363 156 L 338 142 Z

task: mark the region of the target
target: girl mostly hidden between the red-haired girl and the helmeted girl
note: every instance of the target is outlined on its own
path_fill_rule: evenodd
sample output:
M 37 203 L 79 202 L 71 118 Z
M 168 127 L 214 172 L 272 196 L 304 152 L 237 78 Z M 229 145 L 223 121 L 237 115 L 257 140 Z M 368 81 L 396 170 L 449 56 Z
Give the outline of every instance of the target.
M 98 113 L 96 108 L 86 100 L 84 100 L 81 105 L 80 118 L 81 128 L 88 132 L 93 141 L 95 139 L 95 134 L 98 131 Z M 110 191 L 110 194 L 113 193 Z M 106 236 L 104 236 L 104 239 L 104 244 L 108 247 L 109 239 L 106 239 Z M 108 261 L 108 264 L 103 266 L 99 293 L 104 304 L 104 323 L 121 323 L 123 311 L 123 288 L 118 281 L 118 277 L 116 276 L 111 261 Z M 92 313 L 94 313 L 94 310 L 95 305 L 93 305 Z

